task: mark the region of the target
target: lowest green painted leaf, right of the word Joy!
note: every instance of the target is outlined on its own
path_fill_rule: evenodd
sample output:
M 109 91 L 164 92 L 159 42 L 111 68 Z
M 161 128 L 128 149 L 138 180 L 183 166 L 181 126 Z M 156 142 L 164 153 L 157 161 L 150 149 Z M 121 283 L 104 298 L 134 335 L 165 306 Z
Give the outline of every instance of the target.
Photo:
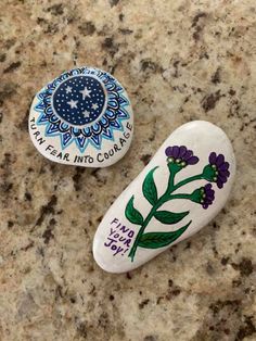
M 159 249 L 169 245 L 178 239 L 190 226 L 192 220 L 185 226 L 172 232 L 149 232 L 141 236 L 139 247 L 144 249 Z

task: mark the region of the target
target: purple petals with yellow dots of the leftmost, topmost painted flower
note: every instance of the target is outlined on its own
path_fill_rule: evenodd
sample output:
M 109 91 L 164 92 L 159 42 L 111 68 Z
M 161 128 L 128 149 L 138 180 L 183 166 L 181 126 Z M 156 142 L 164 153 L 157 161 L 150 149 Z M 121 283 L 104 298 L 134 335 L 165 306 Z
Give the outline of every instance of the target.
M 168 163 L 176 163 L 181 167 L 195 165 L 199 162 L 199 157 L 193 155 L 192 150 L 188 150 L 184 146 L 167 147 L 165 153 Z

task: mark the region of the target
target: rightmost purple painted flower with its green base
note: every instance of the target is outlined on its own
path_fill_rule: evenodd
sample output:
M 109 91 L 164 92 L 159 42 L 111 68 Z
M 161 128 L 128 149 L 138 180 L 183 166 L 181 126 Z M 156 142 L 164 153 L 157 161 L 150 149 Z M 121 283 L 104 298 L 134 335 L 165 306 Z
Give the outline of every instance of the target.
M 217 155 L 212 152 L 209 154 L 209 165 L 205 166 L 203 174 L 206 180 L 217 182 L 218 188 L 222 188 L 230 176 L 229 163 L 225 161 L 222 154 Z

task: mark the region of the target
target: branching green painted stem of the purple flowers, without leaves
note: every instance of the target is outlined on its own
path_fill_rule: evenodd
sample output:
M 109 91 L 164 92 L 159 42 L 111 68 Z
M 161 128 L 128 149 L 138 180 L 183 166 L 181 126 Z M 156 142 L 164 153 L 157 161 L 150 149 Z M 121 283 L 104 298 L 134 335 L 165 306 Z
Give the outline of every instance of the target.
M 154 216 L 155 212 L 167 201 L 169 200 L 174 200 L 174 199 L 190 199 L 190 194 L 175 194 L 175 195 L 170 195 L 174 191 L 176 191 L 178 188 L 195 181 L 195 180 L 201 180 L 204 179 L 203 174 L 199 174 L 199 175 L 194 175 L 191 176 L 190 178 L 187 178 L 180 182 L 178 182 L 177 185 L 174 185 L 174 178 L 177 172 L 171 172 L 170 169 L 170 177 L 169 177 L 169 181 L 168 181 L 168 188 L 166 190 L 166 192 L 158 199 L 158 201 L 156 202 L 156 204 L 151 209 L 150 213 L 148 214 L 146 218 L 144 219 L 143 224 L 141 225 L 141 228 L 136 237 L 136 240 L 132 244 L 132 248 L 129 252 L 129 257 L 131 258 L 131 262 L 133 262 L 135 260 L 135 255 L 137 252 L 137 248 L 139 245 L 139 241 L 141 236 L 143 235 L 146 226 L 149 225 L 150 220 L 152 219 L 152 217 Z

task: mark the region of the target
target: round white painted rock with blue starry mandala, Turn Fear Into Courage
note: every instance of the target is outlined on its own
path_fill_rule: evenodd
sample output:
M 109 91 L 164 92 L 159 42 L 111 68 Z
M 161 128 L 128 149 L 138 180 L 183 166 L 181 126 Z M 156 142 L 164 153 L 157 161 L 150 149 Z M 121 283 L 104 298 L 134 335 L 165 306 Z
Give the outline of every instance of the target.
M 126 90 L 113 76 L 80 67 L 36 94 L 28 125 L 33 143 L 47 159 L 105 167 L 128 151 L 133 114 Z

